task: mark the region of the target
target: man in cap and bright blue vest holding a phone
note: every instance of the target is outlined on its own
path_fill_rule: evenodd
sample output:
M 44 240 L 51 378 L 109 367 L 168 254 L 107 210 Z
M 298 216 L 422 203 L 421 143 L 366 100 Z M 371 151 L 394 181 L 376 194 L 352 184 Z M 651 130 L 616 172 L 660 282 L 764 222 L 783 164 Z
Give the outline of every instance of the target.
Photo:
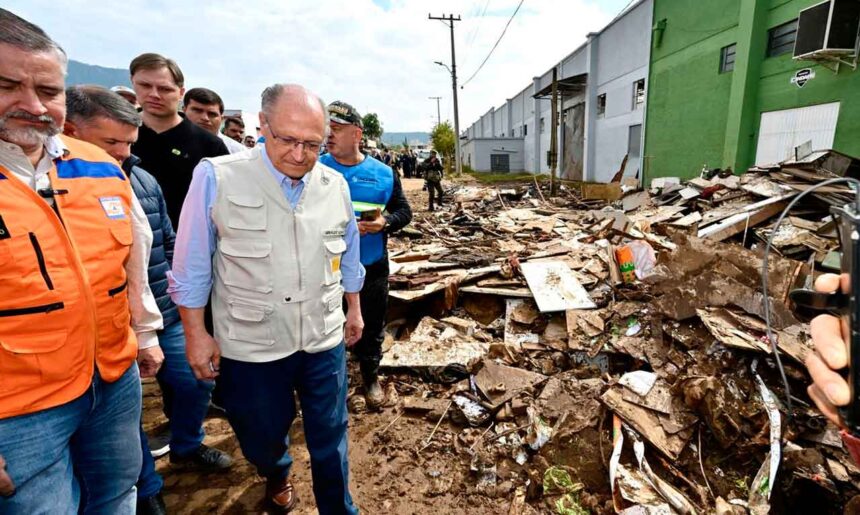
M 328 153 L 320 157 L 320 163 L 346 179 L 355 216 L 360 220 L 361 264 L 367 271 L 361 290 L 365 326 L 353 352 L 361 365 L 367 404 L 378 408 L 385 401 L 377 374 L 388 309 L 388 235 L 412 221 L 412 209 L 403 194 L 400 177 L 388 165 L 359 150 L 362 122 L 355 108 L 345 102 L 332 102 L 328 112 Z

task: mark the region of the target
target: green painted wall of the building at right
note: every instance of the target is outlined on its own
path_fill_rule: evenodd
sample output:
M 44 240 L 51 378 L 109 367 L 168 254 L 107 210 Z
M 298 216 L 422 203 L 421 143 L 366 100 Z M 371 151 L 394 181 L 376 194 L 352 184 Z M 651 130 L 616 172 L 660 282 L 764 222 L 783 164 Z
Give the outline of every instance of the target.
M 841 102 L 834 148 L 860 156 L 860 70 L 834 73 L 791 54 L 767 57 L 767 33 L 820 0 L 655 0 L 645 122 L 645 183 L 749 168 L 761 113 Z M 734 71 L 721 50 L 737 44 Z M 815 70 L 805 87 L 791 84 Z

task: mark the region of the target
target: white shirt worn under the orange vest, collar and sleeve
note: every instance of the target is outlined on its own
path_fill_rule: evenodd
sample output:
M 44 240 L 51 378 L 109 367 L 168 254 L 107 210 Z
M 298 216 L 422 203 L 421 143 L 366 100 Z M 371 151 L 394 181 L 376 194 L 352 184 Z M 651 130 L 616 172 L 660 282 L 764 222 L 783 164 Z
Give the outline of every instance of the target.
M 54 159 L 68 152 L 63 140 L 54 136 L 45 143 L 45 153 L 33 168 L 30 159 L 21 147 L 0 140 L 0 165 L 12 172 L 18 180 L 24 182 L 33 190 L 51 187 L 48 172 L 53 166 Z M 53 205 L 54 199 L 46 198 L 45 202 Z M 131 311 L 131 328 L 137 335 L 139 349 L 147 349 L 158 345 L 156 331 L 162 329 L 164 322 L 161 312 L 149 289 L 149 253 L 152 250 L 152 230 L 146 214 L 137 198 L 131 195 L 131 230 L 134 239 L 129 249 L 125 273 L 128 276 L 128 303 Z

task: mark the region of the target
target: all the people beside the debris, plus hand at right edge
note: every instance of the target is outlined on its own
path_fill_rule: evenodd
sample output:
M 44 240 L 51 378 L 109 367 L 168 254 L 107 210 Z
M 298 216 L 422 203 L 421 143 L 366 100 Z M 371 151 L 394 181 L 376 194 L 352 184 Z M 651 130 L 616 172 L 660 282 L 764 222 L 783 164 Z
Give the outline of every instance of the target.
M 0 9 L 0 513 L 166 513 L 155 455 L 233 466 L 203 443 L 213 395 L 269 509 L 297 503 L 298 397 L 317 509 L 357 513 L 346 352 L 380 406 L 387 238 L 412 219 L 398 169 L 425 178 L 433 209 L 435 153 L 363 152 L 355 108 L 296 84 L 262 92 L 250 135 L 168 57 L 135 57 L 132 88 L 113 91 L 67 88 L 67 62 Z M 840 323 L 812 332 L 810 395 L 838 422 Z M 147 377 L 167 446 L 142 429 Z

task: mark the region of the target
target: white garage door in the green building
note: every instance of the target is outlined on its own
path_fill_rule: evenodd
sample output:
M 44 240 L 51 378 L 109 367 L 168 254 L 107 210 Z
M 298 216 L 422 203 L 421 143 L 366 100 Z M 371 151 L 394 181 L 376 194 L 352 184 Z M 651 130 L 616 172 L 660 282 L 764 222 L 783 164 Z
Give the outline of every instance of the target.
M 761 114 L 755 163 L 768 165 L 794 157 L 794 147 L 812 140 L 813 150 L 833 148 L 839 102 Z

